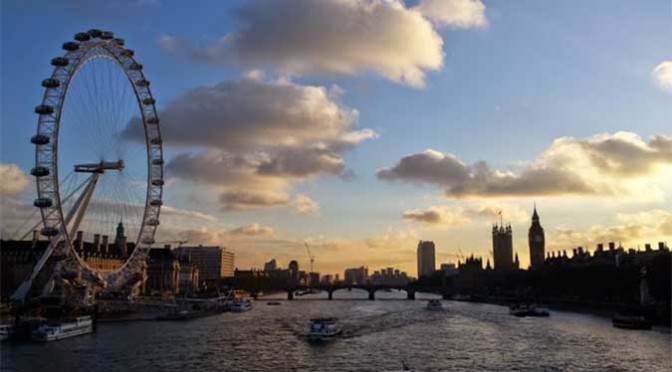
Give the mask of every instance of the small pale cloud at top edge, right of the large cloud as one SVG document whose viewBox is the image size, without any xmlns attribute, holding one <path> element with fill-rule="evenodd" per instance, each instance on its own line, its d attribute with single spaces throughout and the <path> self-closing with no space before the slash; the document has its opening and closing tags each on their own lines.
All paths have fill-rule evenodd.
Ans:
<svg viewBox="0 0 672 372">
<path fill-rule="evenodd" d="M 422 0 L 415 9 L 439 26 L 463 29 L 488 26 L 481 0 Z"/>
</svg>

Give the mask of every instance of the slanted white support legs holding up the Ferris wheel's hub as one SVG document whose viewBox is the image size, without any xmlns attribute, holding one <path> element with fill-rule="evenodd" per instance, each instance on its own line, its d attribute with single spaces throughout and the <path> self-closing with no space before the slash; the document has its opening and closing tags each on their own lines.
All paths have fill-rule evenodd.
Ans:
<svg viewBox="0 0 672 372">
<path fill-rule="evenodd" d="M 93 191 L 95 189 L 96 183 L 98 182 L 98 178 L 100 177 L 100 174 L 94 174 L 91 177 L 91 180 L 89 181 L 89 184 L 86 186 L 86 189 L 82 193 L 82 195 L 77 199 L 75 202 L 75 205 L 72 207 L 70 212 L 68 213 L 67 218 L 65 219 L 65 225 L 61 226 L 61 231 L 58 235 L 54 236 L 51 238 L 49 242 L 49 246 L 47 247 L 46 251 L 42 254 L 42 257 L 40 257 L 40 260 L 37 261 L 35 264 L 35 267 L 33 267 L 33 271 L 31 272 L 30 276 L 19 286 L 19 288 L 12 294 L 11 300 L 12 301 L 23 301 L 26 298 L 26 295 L 28 295 L 28 291 L 30 291 L 30 288 L 33 286 L 33 281 L 37 276 L 40 274 L 42 269 L 44 268 L 44 265 L 47 263 L 47 260 L 49 260 L 49 257 L 54 253 L 54 250 L 58 247 L 58 244 L 63 241 L 63 237 L 68 239 L 68 233 L 67 233 L 67 226 L 70 223 L 70 220 L 73 218 L 75 212 L 77 210 L 80 210 L 80 213 L 77 215 L 77 224 L 75 228 L 79 227 L 79 223 L 81 223 L 81 219 L 84 215 L 84 211 L 86 210 L 86 207 L 89 204 L 89 201 L 91 200 L 91 196 L 93 195 Z M 80 206 L 84 203 L 84 208 L 80 208 Z M 70 242 L 67 241 L 65 243 L 65 252 L 67 253 L 70 247 Z M 50 283 L 53 280 L 54 273 L 60 270 L 61 264 L 60 262 L 56 265 L 56 269 L 54 272 L 51 274 L 51 278 L 47 283 Z M 47 288 L 49 285 L 47 285 Z M 46 288 L 45 288 L 46 289 Z"/>
</svg>

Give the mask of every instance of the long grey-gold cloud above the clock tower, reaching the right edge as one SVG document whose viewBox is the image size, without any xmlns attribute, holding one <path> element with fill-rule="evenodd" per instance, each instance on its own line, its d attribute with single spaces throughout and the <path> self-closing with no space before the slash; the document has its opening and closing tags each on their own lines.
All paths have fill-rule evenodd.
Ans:
<svg viewBox="0 0 672 372">
<path fill-rule="evenodd" d="M 454 198 L 615 196 L 634 195 L 647 177 L 670 167 L 672 138 L 658 135 L 644 142 L 634 133 L 618 132 L 557 139 L 518 172 L 491 169 L 484 161 L 466 164 L 453 154 L 427 150 L 376 175 L 384 181 L 436 185 Z"/>
</svg>

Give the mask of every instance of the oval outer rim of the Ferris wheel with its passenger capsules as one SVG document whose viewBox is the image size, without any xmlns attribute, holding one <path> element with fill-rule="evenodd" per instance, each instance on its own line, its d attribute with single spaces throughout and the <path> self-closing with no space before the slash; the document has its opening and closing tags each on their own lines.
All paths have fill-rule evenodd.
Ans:
<svg viewBox="0 0 672 372">
<path fill-rule="evenodd" d="M 135 249 L 126 262 L 108 276 L 114 281 L 124 270 L 133 272 L 144 264 L 147 251 L 154 243 L 163 205 L 163 141 L 159 126 L 156 101 L 150 90 L 143 67 L 134 58 L 134 52 L 124 47 L 123 39 L 114 38 L 111 32 L 90 30 L 75 35 L 76 41 L 63 44 L 64 56 L 55 57 L 51 63 L 54 70 L 43 80 L 45 93 L 42 103 L 35 111 L 39 115 L 37 133 L 31 138 L 35 145 L 35 167 L 31 174 L 36 178 L 37 196 L 34 205 L 40 208 L 43 235 L 53 238 L 58 234 L 65 241 L 68 252 L 76 257 L 84 269 L 94 272 L 72 247 L 72 237 L 67 231 L 58 179 L 58 141 L 61 115 L 65 107 L 68 89 L 79 70 L 96 58 L 109 58 L 123 72 L 137 100 L 145 134 L 147 155 L 147 188 L 145 203 Z"/>
</svg>

